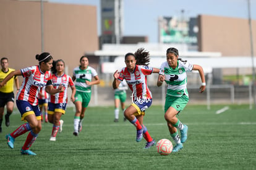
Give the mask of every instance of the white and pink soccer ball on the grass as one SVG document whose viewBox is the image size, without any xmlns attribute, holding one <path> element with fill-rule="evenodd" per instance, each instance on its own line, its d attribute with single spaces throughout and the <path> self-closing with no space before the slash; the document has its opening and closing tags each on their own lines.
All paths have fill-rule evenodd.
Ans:
<svg viewBox="0 0 256 170">
<path fill-rule="evenodd" d="M 160 155 L 169 155 L 173 151 L 173 143 L 166 138 L 162 138 L 156 143 L 156 150 Z"/>
</svg>

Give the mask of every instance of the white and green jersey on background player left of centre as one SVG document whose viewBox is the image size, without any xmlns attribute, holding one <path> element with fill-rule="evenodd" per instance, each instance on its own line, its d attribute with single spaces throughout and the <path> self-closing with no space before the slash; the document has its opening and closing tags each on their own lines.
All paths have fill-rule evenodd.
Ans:
<svg viewBox="0 0 256 170">
<path fill-rule="evenodd" d="M 85 80 L 92 82 L 93 77 L 97 74 L 93 67 L 88 66 L 87 69 L 82 70 L 80 67 L 75 67 L 73 70 L 73 76 L 75 76 L 75 88 L 77 91 L 82 91 L 86 93 L 91 92 L 91 85 L 87 85 Z"/>
</svg>

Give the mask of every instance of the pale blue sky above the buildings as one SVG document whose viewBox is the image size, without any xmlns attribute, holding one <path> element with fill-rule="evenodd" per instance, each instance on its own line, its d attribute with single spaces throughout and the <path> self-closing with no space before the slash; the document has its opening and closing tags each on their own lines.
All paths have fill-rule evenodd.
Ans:
<svg viewBox="0 0 256 170">
<path fill-rule="evenodd" d="M 48 0 L 66 4 L 97 6 L 98 35 L 100 35 L 100 0 Z M 148 36 L 150 43 L 158 41 L 158 17 L 218 15 L 248 19 L 247 0 L 124 0 L 124 36 Z M 256 20 L 256 0 L 250 0 L 250 15 Z M 256 30 L 256 28 L 253 28 Z"/>
</svg>

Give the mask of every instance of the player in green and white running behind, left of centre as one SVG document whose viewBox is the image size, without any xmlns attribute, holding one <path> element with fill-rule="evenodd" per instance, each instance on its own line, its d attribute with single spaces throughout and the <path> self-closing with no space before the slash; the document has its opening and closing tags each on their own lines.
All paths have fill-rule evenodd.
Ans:
<svg viewBox="0 0 256 170">
<path fill-rule="evenodd" d="M 75 82 L 75 117 L 74 132 L 75 136 L 79 135 L 82 130 L 82 121 L 85 116 L 85 110 L 91 100 L 92 85 L 100 83 L 98 74 L 93 67 L 88 66 L 89 59 L 87 56 L 80 57 L 80 66 L 75 67 L 72 80 Z M 94 80 L 93 80 L 94 79 Z"/>
</svg>

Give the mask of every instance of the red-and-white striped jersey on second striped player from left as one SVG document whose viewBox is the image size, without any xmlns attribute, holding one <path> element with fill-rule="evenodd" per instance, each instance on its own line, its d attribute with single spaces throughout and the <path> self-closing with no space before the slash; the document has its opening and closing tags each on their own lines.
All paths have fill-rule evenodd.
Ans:
<svg viewBox="0 0 256 170">
<path fill-rule="evenodd" d="M 51 76 L 53 87 L 59 88 L 59 85 L 64 87 L 64 91 L 56 93 L 55 95 L 50 95 L 49 102 L 50 103 L 67 103 L 67 88 L 74 86 L 74 82 L 69 75 L 63 74 L 61 76 L 57 76 L 53 74 Z"/>
</svg>

